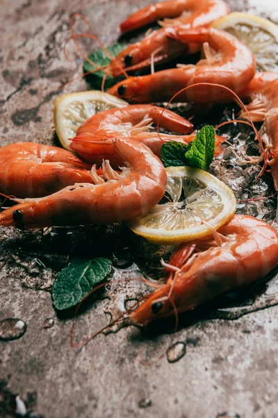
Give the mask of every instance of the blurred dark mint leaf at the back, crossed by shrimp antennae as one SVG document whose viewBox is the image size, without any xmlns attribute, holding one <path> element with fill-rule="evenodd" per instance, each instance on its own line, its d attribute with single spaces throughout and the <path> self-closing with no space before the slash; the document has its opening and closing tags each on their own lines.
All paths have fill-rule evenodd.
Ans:
<svg viewBox="0 0 278 418">
<path fill-rule="evenodd" d="M 113 57 L 115 57 L 117 54 L 122 52 L 122 50 L 125 48 L 125 45 L 122 44 L 114 44 L 107 47 L 108 51 L 111 53 Z M 111 59 L 109 56 L 107 56 L 106 52 L 102 48 L 95 49 L 92 54 L 88 56 L 88 59 L 90 59 L 93 63 L 99 65 L 102 67 L 103 65 L 108 65 L 111 63 Z M 83 63 L 83 72 L 89 72 L 94 70 L 94 67 L 88 61 L 84 61 Z M 94 88 L 95 90 L 101 90 L 101 83 L 102 79 L 104 78 L 105 72 L 104 71 L 97 71 L 94 72 L 94 74 L 88 75 L 88 82 Z M 117 79 L 114 77 L 111 77 L 111 75 L 106 76 L 105 81 L 105 87 L 110 88 L 117 82 Z"/>
</svg>

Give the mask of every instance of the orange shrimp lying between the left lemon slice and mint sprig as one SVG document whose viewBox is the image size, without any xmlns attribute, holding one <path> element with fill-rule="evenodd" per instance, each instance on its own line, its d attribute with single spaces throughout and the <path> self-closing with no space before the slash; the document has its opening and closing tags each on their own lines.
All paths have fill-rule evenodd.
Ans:
<svg viewBox="0 0 278 418">
<path fill-rule="evenodd" d="M 119 156 L 113 152 L 113 145 L 102 143 L 104 137 L 115 137 L 120 135 L 121 137 L 129 137 L 135 141 L 140 141 L 149 147 L 152 152 L 160 157 L 161 146 L 166 141 L 179 141 L 183 144 L 188 144 L 195 139 L 195 133 L 189 135 L 172 135 L 162 134 L 158 135 L 157 132 L 147 132 L 150 124 L 154 122 L 165 127 L 167 130 L 187 133 L 193 126 L 182 116 L 174 114 L 174 112 L 163 109 L 162 107 L 153 106 L 152 104 L 131 104 L 123 107 L 122 109 L 108 109 L 101 111 L 79 127 L 76 132 L 76 141 L 72 141 L 71 148 L 76 150 L 76 146 L 79 149 L 79 155 L 83 157 L 85 161 L 101 163 L 101 161 L 109 155 L 109 161 L 111 165 L 118 166 L 120 164 Z M 78 141 L 78 139 L 80 141 Z M 99 144 L 97 141 L 100 140 Z M 86 153 L 81 150 L 80 144 L 94 141 L 94 146 L 90 147 L 90 153 Z M 216 146 L 218 147 L 223 141 L 223 138 L 216 135 Z M 76 145 L 77 144 L 77 145 Z M 219 148 L 217 149 L 218 152 Z"/>
</svg>

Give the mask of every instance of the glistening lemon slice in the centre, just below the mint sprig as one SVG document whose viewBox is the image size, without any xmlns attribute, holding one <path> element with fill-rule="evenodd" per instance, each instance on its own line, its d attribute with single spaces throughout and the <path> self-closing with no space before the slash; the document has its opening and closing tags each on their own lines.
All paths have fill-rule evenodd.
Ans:
<svg viewBox="0 0 278 418">
<path fill-rule="evenodd" d="M 165 197 L 147 215 L 129 222 L 131 230 L 159 245 L 177 245 L 218 229 L 236 210 L 234 193 L 204 170 L 167 167 Z"/>
</svg>

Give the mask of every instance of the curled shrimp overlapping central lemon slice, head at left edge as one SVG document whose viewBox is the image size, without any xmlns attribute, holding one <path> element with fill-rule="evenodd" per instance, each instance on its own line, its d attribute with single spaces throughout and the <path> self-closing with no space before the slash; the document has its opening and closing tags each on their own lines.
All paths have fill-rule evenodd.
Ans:
<svg viewBox="0 0 278 418">
<path fill-rule="evenodd" d="M 74 141 L 83 150 L 81 141 Z M 92 176 L 97 184 L 76 183 L 50 196 L 17 199 L 21 203 L 1 212 L 0 225 L 32 229 L 112 223 L 133 219 L 152 209 L 165 192 L 167 176 L 162 162 L 149 148 L 132 139 L 106 139 L 104 144 L 112 144 L 114 152 L 127 163 L 120 173 L 106 160 L 102 167 L 106 182 L 94 166 Z M 85 144 L 85 148 L 92 145 Z"/>
</svg>

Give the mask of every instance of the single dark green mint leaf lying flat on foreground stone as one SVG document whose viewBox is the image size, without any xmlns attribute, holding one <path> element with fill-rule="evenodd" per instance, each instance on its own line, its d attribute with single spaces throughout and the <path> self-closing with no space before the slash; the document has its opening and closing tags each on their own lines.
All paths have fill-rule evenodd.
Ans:
<svg viewBox="0 0 278 418">
<path fill-rule="evenodd" d="M 58 273 L 54 281 L 52 288 L 54 307 L 59 310 L 74 307 L 109 272 L 111 272 L 111 261 L 107 258 L 72 261 Z"/>
</svg>

